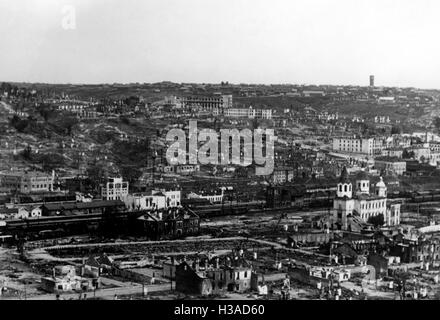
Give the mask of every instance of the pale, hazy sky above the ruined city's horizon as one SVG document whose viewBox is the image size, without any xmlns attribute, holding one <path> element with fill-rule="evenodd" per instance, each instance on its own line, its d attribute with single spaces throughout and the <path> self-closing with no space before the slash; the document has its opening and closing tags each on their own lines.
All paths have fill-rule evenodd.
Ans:
<svg viewBox="0 0 440 320">
<path fill-rule="evenodd" d="M 1 0 L 0 81 L 368 85 L 374 74 L 440 89 L 439 15 L 438 0 Z"/>
</svg>

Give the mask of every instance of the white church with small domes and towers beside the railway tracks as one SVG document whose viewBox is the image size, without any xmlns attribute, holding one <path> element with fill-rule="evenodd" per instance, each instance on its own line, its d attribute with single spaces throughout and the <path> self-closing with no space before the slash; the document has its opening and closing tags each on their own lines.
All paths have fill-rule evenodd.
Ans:
<svg viewBox="0 0 440 320">
<path fill-rule="evenodd" d="M 384 226 L 400 224 L 400 204 L 387 202 L 387 186 L 382 177 L 372 187 L 368 174 L 362 171 L 353 182 L 344 168 L 333 202 L 333 222 L 337 229 L 361 230 L 370 218 L 379 215 L 384 217 Z"/>
</svg>

